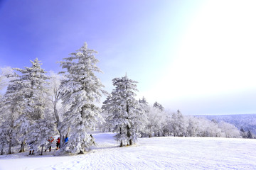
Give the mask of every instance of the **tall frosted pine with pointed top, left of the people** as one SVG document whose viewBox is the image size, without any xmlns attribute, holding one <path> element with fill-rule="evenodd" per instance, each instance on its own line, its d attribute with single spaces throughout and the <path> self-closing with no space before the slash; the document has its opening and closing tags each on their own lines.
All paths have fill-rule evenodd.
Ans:
<svg viewBox="0 0 256 170">
<path fill-rule="evenodd" d="M 24 69 L 16 68 L 16 71 L 21 73 L 19 82 L 21 85 L 20 92 L 23 93 L 23 99 L 18 103 L 23 111 L 15 121 L 15 126 L 19 130 L 19 138 L 23 144 L 21 151 L 24 149 L 26 140 L 33 140 L 33 137 L 31 139 L 28 134 L 31 131 L 31 125 L 43 118 L 47 108 L 46 79 L 48 77 L 37 58 L 31 61 L 31 64 L 31 67 L 25 67 Z"/>
</svg>

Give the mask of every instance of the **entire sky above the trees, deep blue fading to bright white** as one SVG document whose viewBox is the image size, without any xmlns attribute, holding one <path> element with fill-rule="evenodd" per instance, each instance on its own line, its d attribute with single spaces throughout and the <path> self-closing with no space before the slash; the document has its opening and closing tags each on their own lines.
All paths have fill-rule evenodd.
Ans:
<svg viewBox="0 0 256 170">
<path fill-rule="evenodd" d="M 99 77 L 185 115 L 256 113 L 256 1 L 0 0 L 0 67 L 59 72 L 84 42 Z"/>
</svg>

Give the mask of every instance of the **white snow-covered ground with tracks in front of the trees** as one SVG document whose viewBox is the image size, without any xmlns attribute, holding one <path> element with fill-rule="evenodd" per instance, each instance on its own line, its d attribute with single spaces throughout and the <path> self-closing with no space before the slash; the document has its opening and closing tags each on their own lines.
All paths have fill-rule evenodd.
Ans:
<svg viewBox="0 0 256 170">
<path fill-rule="evenodd" d="M 140 138 L 132 147 L 118 147 L 112 133 L 93 136 L 97 146 L 87 154 L 3 155 L 0 169 L 256 169 L 256 140 L 151 137 Z"/>
</svg>

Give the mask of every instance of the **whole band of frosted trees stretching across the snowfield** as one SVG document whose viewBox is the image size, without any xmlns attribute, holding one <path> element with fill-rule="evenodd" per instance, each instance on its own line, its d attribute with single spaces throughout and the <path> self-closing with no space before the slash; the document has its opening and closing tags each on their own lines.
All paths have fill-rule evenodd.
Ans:
<svg viewBox="0 0 256 170">
<path fill-rule="evenodd" d="M 0 101 L 0 154 L 43 150 L 48 138 L 60 137 L 56 154 L 82 154 L 95 144 L 92 130 L 116 132 L 120 147 L 133 145 L 138 137 L 247 137 L 229 123 L 169 113 L 160 103 L 135 98 L 137 81 L 127 75 L 112 79 L 111 93 L 95 76 L 95 50 L 85 43 L 60 62 L 62 71 L 46 73 L 38 59 L 31 67 L 6 69 L 0 87 L 7 86 Z M 5 79 L 5 80 L 4 80 Z M 7 80 L 7 81 L 6 81 Z M 107 96 L 98 106 L 102 96 Z M 68 142 L 64 138 L 68 137 Z M 21 147 L 14 151 L 14 147 Z"/>
</svg>

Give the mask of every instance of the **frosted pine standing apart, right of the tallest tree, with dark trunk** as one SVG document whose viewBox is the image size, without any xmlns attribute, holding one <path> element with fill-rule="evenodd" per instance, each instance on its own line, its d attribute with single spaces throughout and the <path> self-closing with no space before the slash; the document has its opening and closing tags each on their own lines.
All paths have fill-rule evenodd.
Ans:
<svg viewBox="0 0 256 170">
<path fill-rule="evenodd" d="M 137 81 L 128 79 L 127 76 L 114 78 L 112 81 L 115 89 L 102 108 L 109 113 L 107 120 L 111 121 L 114 132 L 117 132 L 115 139 L 120 142 L 120 147 L 124 145 L 124 141 L 132 145 L 139 137 L 139 131 L 146 120 L 144 110 L 134 98 Z"/>
</svg>

